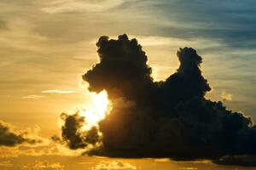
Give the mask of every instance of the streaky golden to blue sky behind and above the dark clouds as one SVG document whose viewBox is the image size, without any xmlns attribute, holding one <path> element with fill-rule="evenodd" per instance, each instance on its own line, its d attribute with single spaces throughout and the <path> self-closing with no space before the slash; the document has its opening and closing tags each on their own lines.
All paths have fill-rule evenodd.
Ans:
<svg viewBox="0 0 256 170">
<path fill-rule="evenodd" d="M 195 48 L 212 86 L 207 98 L 256 120 L 255 5 L 253 0 L 1 0 L 0 118 L 44 138 L 60 133 L 61 112 L 92 102 L 81 76 L 99 61 L 97 39 L 126 33 L 143 46 L 155 81 L 177 70 L 178 48 Z"/>
</svg>

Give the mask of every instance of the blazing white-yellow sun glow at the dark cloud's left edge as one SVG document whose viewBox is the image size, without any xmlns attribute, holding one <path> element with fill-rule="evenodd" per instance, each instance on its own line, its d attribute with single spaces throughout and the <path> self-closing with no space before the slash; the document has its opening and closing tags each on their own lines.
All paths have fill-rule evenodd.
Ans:
<svg viewBox="0 0 256 170">
<path fill-rule="evenodd" d="M 99 94 L 91 93 L 90 95 L 92 98 L 91 105 L 80 113 L 81 116 L 84 116 L 86 122 L 83 130 L 88 130 L 94 126 L 97 127 L 98 123 L 105 118 L 109 111 L 111 111 L 108 94 L 105 90 Z"/>
</svg>

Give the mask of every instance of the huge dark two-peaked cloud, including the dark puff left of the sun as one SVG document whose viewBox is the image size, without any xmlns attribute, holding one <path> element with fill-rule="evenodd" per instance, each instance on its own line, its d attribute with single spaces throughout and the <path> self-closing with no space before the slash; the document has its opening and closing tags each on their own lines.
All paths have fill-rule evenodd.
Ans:
<svg viewBox="0 0 256 170">
<path fill-rule="evenodd" d="M 113 110 L 99 124 L 102 145 L 90 155 L 184 160 L 256 154 L 251 118 L 205 99 L 211 88 L 195 49 L 180 48 L 177 71 L 154 82 L 136 39 L 100 37 L 96 46 L 100 62 L 83 78 L 90 91 L 107 90 Z M 70 148 L 85 147 L 86 133 L 79 133 L 84 119 L 76 114 L 63 120 L 62 137 Z"/>
</svg>

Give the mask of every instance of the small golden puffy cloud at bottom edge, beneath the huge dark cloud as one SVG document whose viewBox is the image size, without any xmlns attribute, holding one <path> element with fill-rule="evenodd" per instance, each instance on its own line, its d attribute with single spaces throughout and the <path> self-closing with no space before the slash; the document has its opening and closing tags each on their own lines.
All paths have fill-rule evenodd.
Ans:
<svg viewBox="0 0 256 170">
<path fill-rule="evenodd" d="M 101 161 L 96 167 L 92 170 L 116 170 L 124 169 L 131 170 L 137 169 L 136 166 L 131 165 L 130 163 L 125 163 L 124 161 Z"/>
</svg>

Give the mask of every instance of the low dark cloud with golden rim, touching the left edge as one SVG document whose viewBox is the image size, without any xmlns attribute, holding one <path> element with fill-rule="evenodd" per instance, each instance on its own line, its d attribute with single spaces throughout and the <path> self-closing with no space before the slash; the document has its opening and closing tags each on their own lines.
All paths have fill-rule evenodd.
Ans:
<svg viewBox="0 0 256 170">
<path fill-rule="evenodd" d="M 37 144 L 41 143 L 40 139 L 31 139 L 26 137 L 27 132 L 18 132 L 9 124 L 0 121 L 0 146 L 15 146 L 17 144 Z"/>
</svg>

